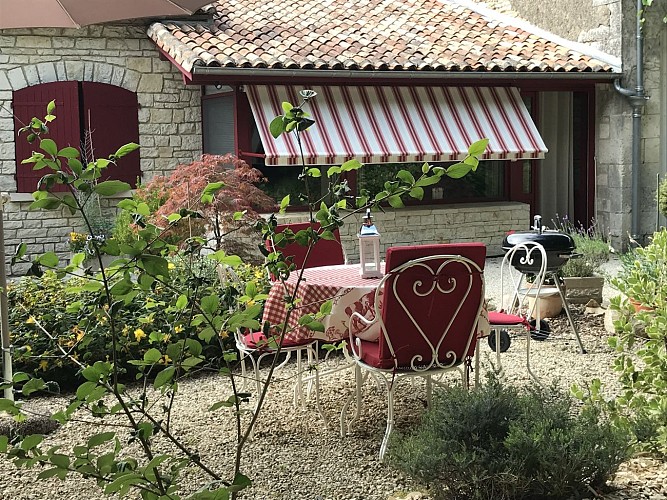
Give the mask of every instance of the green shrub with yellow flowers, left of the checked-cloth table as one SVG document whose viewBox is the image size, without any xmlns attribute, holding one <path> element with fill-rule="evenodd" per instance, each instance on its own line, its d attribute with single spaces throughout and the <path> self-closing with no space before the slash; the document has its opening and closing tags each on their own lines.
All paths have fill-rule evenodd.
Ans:
<svg viewBox="0 0 667 500">
<path fill-rule="evenodd" d="M 213 360 L 229 343 L 226 341 L 229 332 L 210 336 L 204 327 L 193 326 L 190 318 L 182 317 L 175 307 L 180 295 L 195 289 L 215 288 L 231 309 L 238 297 L 246 293 L 247 286 L 252 287 L 252 295 L 263 294 L 269 287 L 263 268 L 242 265 L 237 268 L 239 283 L 222 286 L 218 283 L 213 261 L 176 257 L 171 262 L 171 266 L 183 268 L 182 272 L 174 273 L 178 278 L 171 284 L 173 289 L 155 282 L 116 313 L 117 328 L 121 332 L 116 350 L 125 378 L 136 373 L 129 360 L 141 359 L 151 347 L 189 337 L 205 337 L 208 344 L 204 355 Z M 186 266 L 196 269 L 192 273 L 185 272 Z M 108 308 L 101 305 L 102 291 L 88 292 L 82 288 L 86 282 L 86 279 L 77 277 L 60 279 L 55 272 L 47 271 L 39 278 L 26 277 L 10 285 L 9 321 L 12 343 L 16 347 L 15 371 L 33 373 L 44 380 L 58 382 L 62 388 L 71 388 L 79 382 L 78 367 L 68 361 L 62 350 L 89 365 L 110 360 L 112 341 Z"/>
</svg>

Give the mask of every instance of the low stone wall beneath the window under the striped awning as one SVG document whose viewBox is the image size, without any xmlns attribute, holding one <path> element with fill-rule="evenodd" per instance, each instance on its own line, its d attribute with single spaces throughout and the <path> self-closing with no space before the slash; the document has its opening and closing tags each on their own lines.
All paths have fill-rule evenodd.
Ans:
<svg viewBox="0 0 667 500">
<path fill-rule="evenodd" d="M 279 220 L 281 224 L 304 222 L 308 215 L 288 213 Z M 485 243 L 489 255 L 499 255 L 508 231 L 527 230 L 531 225 L 529 205 L 516 202 L 387 209 L 385 213 L 374 212 L 373 220 L 380 232 L 381 255 L 390 246 L 464 241 Z M 347 219 L 341 228 L 345 256 L 351 263 L 359 262 L 357 232 L 360 226 L 361 214 Z"/>
</svg>

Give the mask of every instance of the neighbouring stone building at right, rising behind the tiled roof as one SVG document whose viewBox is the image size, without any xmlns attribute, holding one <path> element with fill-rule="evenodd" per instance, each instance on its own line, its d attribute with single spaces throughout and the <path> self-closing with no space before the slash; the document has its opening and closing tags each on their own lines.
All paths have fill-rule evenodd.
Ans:
<svg viewBox="0 0 667 500">
<path fill-rule="evenodd" d="M 633 233 L 644 243 L 647 235 L 666 222 L 656 208 L 656 186 L 658 177 L 667 179 L 667 1 L 655 0 L 640 16 L 641 0 L 487 0 L 485 5 L 620 58 L 619 85 L 631 91 L 643 87 L 641 92 L 649 99 L 637 99 L 641 125 L 634 139 L 636 159 L 633 101 L 614 87 L 596 87 L 594 134 L 595 215 L 620 246 Z M 638 21 L 642 36 L 639 66 Z"/>
</svg>

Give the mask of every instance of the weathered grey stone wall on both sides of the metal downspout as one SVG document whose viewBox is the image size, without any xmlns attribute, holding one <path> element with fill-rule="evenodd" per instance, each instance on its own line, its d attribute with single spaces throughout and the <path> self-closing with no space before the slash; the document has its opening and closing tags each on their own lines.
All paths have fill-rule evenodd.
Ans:
<svg viewBox="0 0 667 500">
<path fill-rule="evenodd" d="M 636 15 L 634 0 L 623 0 L 623 87 L 636 86 Z M 644 88 L 650 97 L 642 110 L 639 165 L 639 227 L 637 239 L 646 243 L 658 220 L 657 175 L 667 175 L 667 2 L 655 2 L 646 11 L 644 33 Z M 632 107 L 613 87 L 598 86 L 597 99 L 597 211 L 611 229 L 612 242 L 624 249 L 631 233 Z"/>
</svg>

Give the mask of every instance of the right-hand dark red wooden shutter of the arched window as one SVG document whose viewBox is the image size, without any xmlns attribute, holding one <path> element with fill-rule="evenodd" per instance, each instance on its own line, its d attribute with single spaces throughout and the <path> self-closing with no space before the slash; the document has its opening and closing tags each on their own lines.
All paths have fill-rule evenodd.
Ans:
<svg viewBox="0 0 667 500">
<path fill-rule="evenodd" d="M 95 158 L 108 158 L 128 142 L 139 143 L 139 106 L 134 92 L 106 83 L 82 82 L 84 128 L 91 131 Z M 141 175 L 139 151 L 107 168 L 100 180 L 137 184 Z"/>
</svg>

